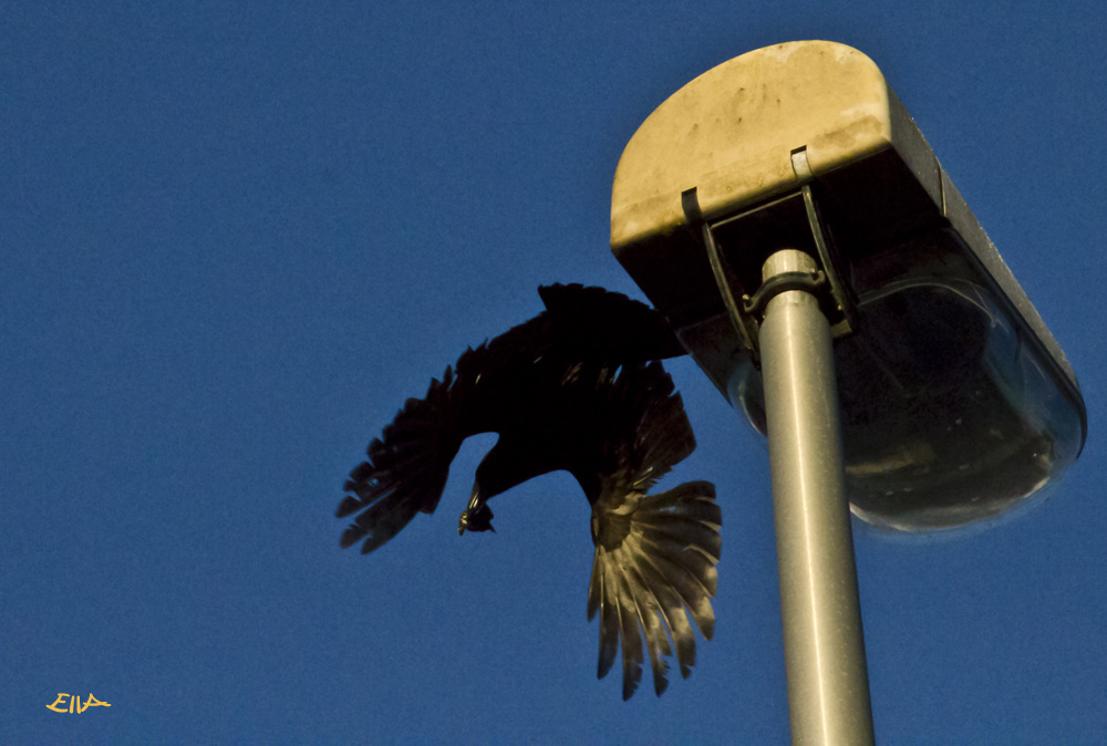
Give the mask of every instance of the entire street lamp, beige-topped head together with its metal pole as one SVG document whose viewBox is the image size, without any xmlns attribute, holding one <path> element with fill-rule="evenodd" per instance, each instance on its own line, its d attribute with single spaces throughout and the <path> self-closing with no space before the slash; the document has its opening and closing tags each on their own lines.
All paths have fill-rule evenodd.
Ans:
<svg viewBox="0 0 1107 746">
<path fill-rule="evenodd" d="M 1086 437 L 1068 361 L 842 44 L 756 50 L 670 96 L 619 162 L 611 248 L 768 435 L 794 743 L 871 743 L 848 510 L 923 532 L 1032 501 Z"/>
</svg>

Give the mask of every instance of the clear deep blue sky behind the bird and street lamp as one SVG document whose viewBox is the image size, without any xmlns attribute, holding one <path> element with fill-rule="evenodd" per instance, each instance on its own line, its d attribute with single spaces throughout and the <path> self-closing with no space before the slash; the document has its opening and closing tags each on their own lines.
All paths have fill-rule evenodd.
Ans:
<svg viewBox="0 0 1107 746">
<path fill-rule="evenodd" d="M 1020 520 L 855 527 L 878 739 L 1107 743 L 1105 28 L 1098 0 L 4 3 L 0 742 L 785 743 L 766 447 L 687 359 L 700 448 L 665 484 L 718 487 L 718 621 L 660 700 L 594 678 L 568 475 L 458 538 L 472 442 L 370 557 L 333 511 L 538 284 L 641 298 L 608 211 L 656 105 L 829 39 L 880 65 L 1089 412 Z"/>
</svg>

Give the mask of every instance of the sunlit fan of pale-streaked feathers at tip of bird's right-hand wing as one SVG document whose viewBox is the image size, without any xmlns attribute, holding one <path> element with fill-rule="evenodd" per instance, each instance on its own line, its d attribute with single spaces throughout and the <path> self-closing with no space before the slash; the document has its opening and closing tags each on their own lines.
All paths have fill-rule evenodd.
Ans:
<svg viewBox="0 0 1107 746">
<path fill-rule="evenodd" d="M 712 638 L 722 520 L 708 481 L 643 496 L 630 512 L 593 512 L 588 619 L 599 611 L 597 674 L 602 678 L 611 670 L 621 640 L 624 700 L 642 677 L 643 641 L 660 695 L 669 685 L 666 659 L 673 647 L 683 677 L 695 665 L 695 635 L 686 613 L 705 639 Z"/>
</svg>

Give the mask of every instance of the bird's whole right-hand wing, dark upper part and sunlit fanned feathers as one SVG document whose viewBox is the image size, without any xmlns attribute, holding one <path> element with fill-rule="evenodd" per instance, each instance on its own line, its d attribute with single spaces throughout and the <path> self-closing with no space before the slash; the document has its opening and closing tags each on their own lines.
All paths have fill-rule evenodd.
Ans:
<svg viewBox="0 0 1107 746">
<path fill-rule="evenodd" d="M 695 665 L 695 635 L 685 610 L 711 639 L 722 542 L 722 512 L 707 481 L 659 495 L 650 486 L 695 448 L 691 425 L 672 381 L 659 364 L 624 370 L 618 395 L 642 400 L 632 438 L 617 445 L 619 469 L 603 480 L 592 505 L 596 555 L 588 589 L 588 619 L 600 613 L 597 674 L 607 675 L 622 641 L 623 698 L 642 677 L 642 643 L 660 695 L 669 685 L 668 657 L 675 646 L 681 675 Z M 668 630 L 668 632 L 666 632 Z M 673 646 L 670 646 L 669 635 Z"/>
</svg>

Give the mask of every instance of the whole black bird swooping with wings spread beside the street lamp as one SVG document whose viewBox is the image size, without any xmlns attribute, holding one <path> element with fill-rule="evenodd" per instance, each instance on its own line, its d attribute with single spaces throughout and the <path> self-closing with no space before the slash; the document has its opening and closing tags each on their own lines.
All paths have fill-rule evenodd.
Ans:
<svg viewBox="0 0 1107 746">
<path fill-rule="evenodd" d="M 410 398 L 350 473 L 340 518 L 358 514 L 342 546 L 381 547 L 416 512 L 433 512 L 462 441 L 499 434 L 476 470 L 466 529 L 492 529 L 489 498 L 532 477 L 568 470 L 592 506 L 596 545 L 588 619 L 600 612 L 598 675 L 622 640 L 623 698 L 642 677 L 668 686 L 672 635 L 681 674 L 695 664 L 685 609 L 711 639 L 722 515 L 714 485 L 649 488 L 695 448 L 660 358 L 683 354 L 664 318 L 601 288 L 539 288 L 546 311 L 468 349 L 424 398 Z M 668 629 L 668 634 L 666 634 Z"/>
</svg>

